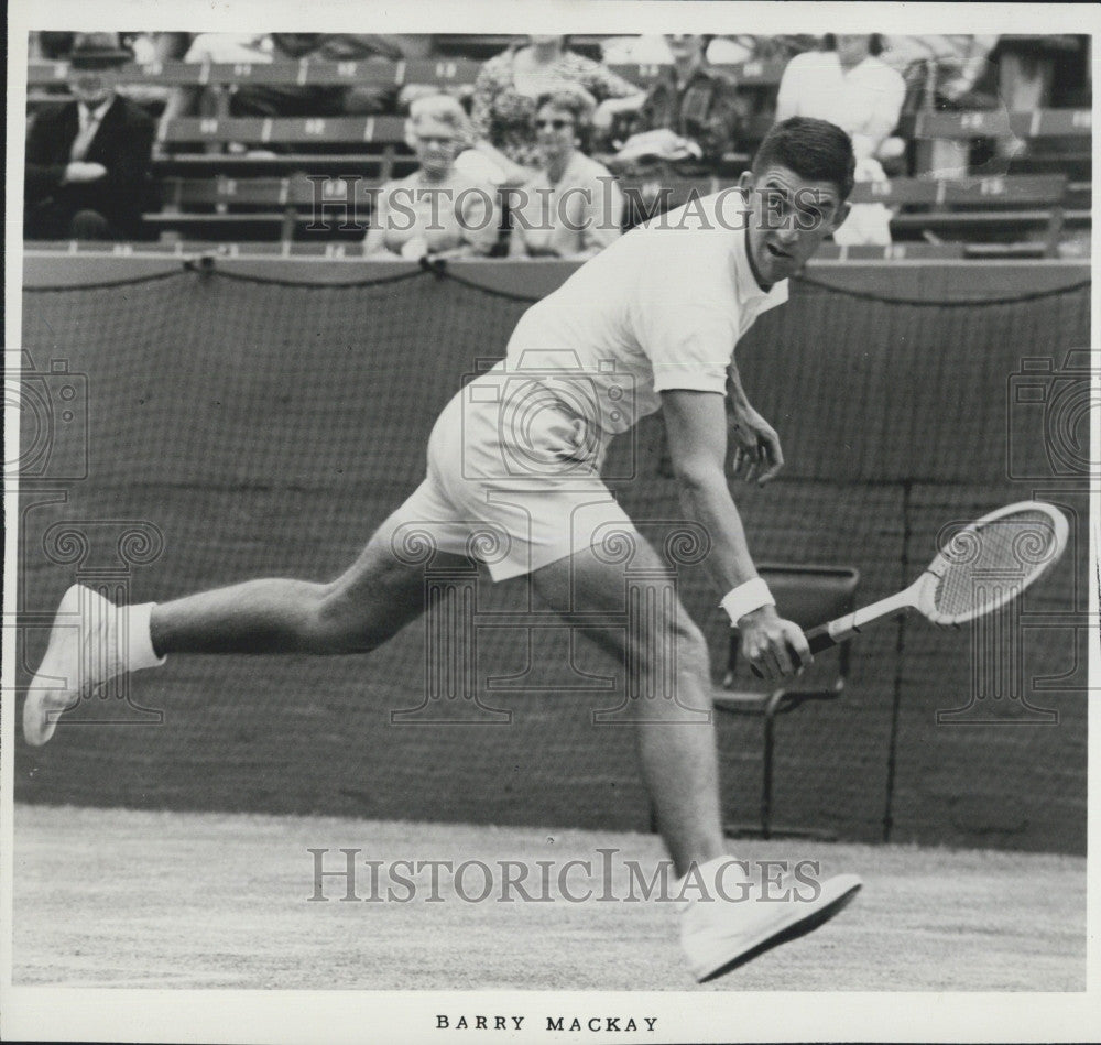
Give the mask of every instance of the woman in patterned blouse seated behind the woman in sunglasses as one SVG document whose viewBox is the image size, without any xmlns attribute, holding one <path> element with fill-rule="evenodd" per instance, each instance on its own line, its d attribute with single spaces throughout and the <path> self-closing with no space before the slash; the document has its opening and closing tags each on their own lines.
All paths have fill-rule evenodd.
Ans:
<svg viewBox="0 0 1101 1045">
<path fill-rule="evenodd" d="M 576 87 L 596 99 L 592 121 L 600 130 L 637 110 L 645 97 L 599 62 L 569 51 L 565 36 L 531 36 L 482 65 L 470 116 L 477 148 L 500 166 L 502 184 L 522 185 L 538 166 L 532 128 L 538 99 Z"/>
</svg>

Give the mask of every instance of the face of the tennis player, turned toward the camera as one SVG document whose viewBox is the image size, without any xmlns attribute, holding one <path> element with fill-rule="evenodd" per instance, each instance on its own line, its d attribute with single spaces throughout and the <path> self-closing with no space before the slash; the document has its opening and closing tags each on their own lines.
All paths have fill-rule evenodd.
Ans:
<svg viewBox="0 0 1101 1045">
<path fill-rule="evenodd" d="M 832 182 L 808 182 L 777 164 L 739 185 L 749 197 L 749 251 L 762 283 L 795 275 L 849 215 Z"/>
</svg>

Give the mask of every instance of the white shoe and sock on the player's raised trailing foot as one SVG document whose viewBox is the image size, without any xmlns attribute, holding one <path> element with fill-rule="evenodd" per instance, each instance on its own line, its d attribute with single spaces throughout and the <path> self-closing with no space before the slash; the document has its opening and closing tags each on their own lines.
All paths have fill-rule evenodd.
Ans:
<svg viewBox="0 0 1101 1045">
<path fill-rule="evenodd" d="M 62 714 L 98 686 L 128 671 L 163 664 L 153 653 L 149 616 L 153 603 L 116 606 L 84 585 L 62 597 L 46 655 L 26 692 L 23 737 L 41 747 Z"/>
</svg>

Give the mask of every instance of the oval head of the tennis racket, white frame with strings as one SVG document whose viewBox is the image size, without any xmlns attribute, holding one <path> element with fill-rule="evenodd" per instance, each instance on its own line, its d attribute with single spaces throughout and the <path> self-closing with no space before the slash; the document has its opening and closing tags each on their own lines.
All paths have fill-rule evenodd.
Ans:
<svg viewBox="0 0 1101 1045">
<path fill-rule="evenodd" d="M 953 533 L 914 586 L 914 607 L 935 624 L 962 624 L 1005 606 L 1067 547 L 1066 515 L 1018 501 Z"/>
</svg>

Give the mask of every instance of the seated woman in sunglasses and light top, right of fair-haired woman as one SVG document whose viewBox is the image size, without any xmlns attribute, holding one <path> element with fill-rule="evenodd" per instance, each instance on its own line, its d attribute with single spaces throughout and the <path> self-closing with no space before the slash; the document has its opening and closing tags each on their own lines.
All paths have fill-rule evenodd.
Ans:
<svg viewBox="0 0 1101 1045">
<path fill-rule="evenodd" d="M 608 168 L 581 152 L 592 102 L 581 91 L 539 99 L 539 173 L 511 193 L 510 258 L 591 258 L 620 235 L 623 194 Z"/>
</svg>

